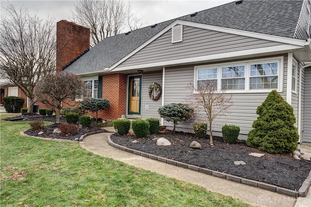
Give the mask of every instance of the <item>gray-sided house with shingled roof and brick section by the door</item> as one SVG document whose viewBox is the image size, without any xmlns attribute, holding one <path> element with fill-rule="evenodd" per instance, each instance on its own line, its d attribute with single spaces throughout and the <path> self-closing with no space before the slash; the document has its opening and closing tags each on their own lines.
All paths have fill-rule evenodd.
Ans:
<svg viewBox="0 0 311 207">
<path fill-rule="evenodd" d="M 66 23 L 79 28 L 58 22 Z M 82 36 L 89 34 L 83 30 Z M 236 124 L 241 139 L 252 129 L 257 107 L 276 89 L 294 108 L 300 142 L 311 142 L 310 30 L 310 1 L 237 0 L 105 38 L 70 65 L 77 55 L 63 61 L 58 70 L 64 67 L 83 78 L 90 97 L 110 101 L 100 114 L 104 119 L 122 114 L 159 118 L 160 106 L 185 102 L 193 94 L 188 84 L 217 80 L 232 94 L 233 105 L 213 126 L 215 135 L 221 135 L 225 123 Z M 79 35 L 66 36 L 82 42 Z M 157 101 L 149 98 L 154 82 L 162 87 Z M 191 131 L 195 119 L 179 123 L 178 130 Z"/>
</svg>

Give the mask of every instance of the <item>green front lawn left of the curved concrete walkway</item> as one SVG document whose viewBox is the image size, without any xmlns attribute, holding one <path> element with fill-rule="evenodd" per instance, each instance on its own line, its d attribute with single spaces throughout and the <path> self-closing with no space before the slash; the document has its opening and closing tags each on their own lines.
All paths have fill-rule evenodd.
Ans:
<svg viewBox="0 0 311 207">
<path fill-rule="evenodd" d="M 1 119 L 5 116 L 1 116 Z M 0 122 L 0 201 L 6 206 L 248 206 L 80 148 L 19 135 L 29 122 Z"/>
</svg>

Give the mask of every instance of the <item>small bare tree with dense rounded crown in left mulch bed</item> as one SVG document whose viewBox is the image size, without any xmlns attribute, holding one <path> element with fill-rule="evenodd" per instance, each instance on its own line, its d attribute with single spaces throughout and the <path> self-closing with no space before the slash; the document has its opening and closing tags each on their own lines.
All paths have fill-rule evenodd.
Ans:
<svg viewBox="0 0 311 207">
<path fill-rule="evenodd" d="M 49 104 L 56 111 L 56 123 L 59 123 L 62 103 L 86 95 L 85 83 L 72 73 L 59 72 L 41 78 L 35 86 L 35 96 L 40 102 Z"/>
</svg>

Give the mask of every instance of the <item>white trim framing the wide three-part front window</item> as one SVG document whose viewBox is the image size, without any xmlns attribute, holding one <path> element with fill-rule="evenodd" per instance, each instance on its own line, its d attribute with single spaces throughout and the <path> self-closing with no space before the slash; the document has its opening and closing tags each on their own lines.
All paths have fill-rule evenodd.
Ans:
<svg viewBox="0 0 311 207">
<path fill-rule="evenodd" d="M 260 63 L 267 63 L 267 62 L 277 62 L 278 69 L 277 69 L 277 89 L 250 89 L 250 65 L 252 64 L 260 64 Z M 248 61 L 235 61 L 229 62 L 224 64 L 211 64 L 211 65 L 202 65 L 202 66 L 195 66 L 194 67 L 194 78 L 193 78 L 193 85 L 194 88 L 197 86 L 198 81 L 198 69 L 212 69 L 217 68 L 217 89 L 221 90 L 221 80 L 222 80 L 222 68 L 223 67 L 232 67 L 232 66 L 245 66 L 244 70 L 244 78 L 245 78 L 245 89 L 244 90 L 225 90 L 225 93 L 267 93 L 271 92 L 272 90 L 276 90 L 277 92 L 283 92 L 283 72 L 284 72 L 284 57 L 271 57 L 271 58 L 264 58 L 264 59 L 254 59 Z M 193 90 L 194 94 L 197 94 L 195 90 Z"/>
</svg>

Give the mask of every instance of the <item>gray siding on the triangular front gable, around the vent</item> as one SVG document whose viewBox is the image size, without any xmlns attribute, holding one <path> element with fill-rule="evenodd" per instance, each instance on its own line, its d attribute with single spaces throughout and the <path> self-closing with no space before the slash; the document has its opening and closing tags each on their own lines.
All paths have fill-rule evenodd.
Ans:
<svg viewBox="0 0 311 207">
<path fill-rule="evenodd" d="M 282 45 L 282 43 L 183 26 L 183 41 L 172 43 L 172 30 L 125 60 L 118 68 L 224 52 Z"/>
</svg>

